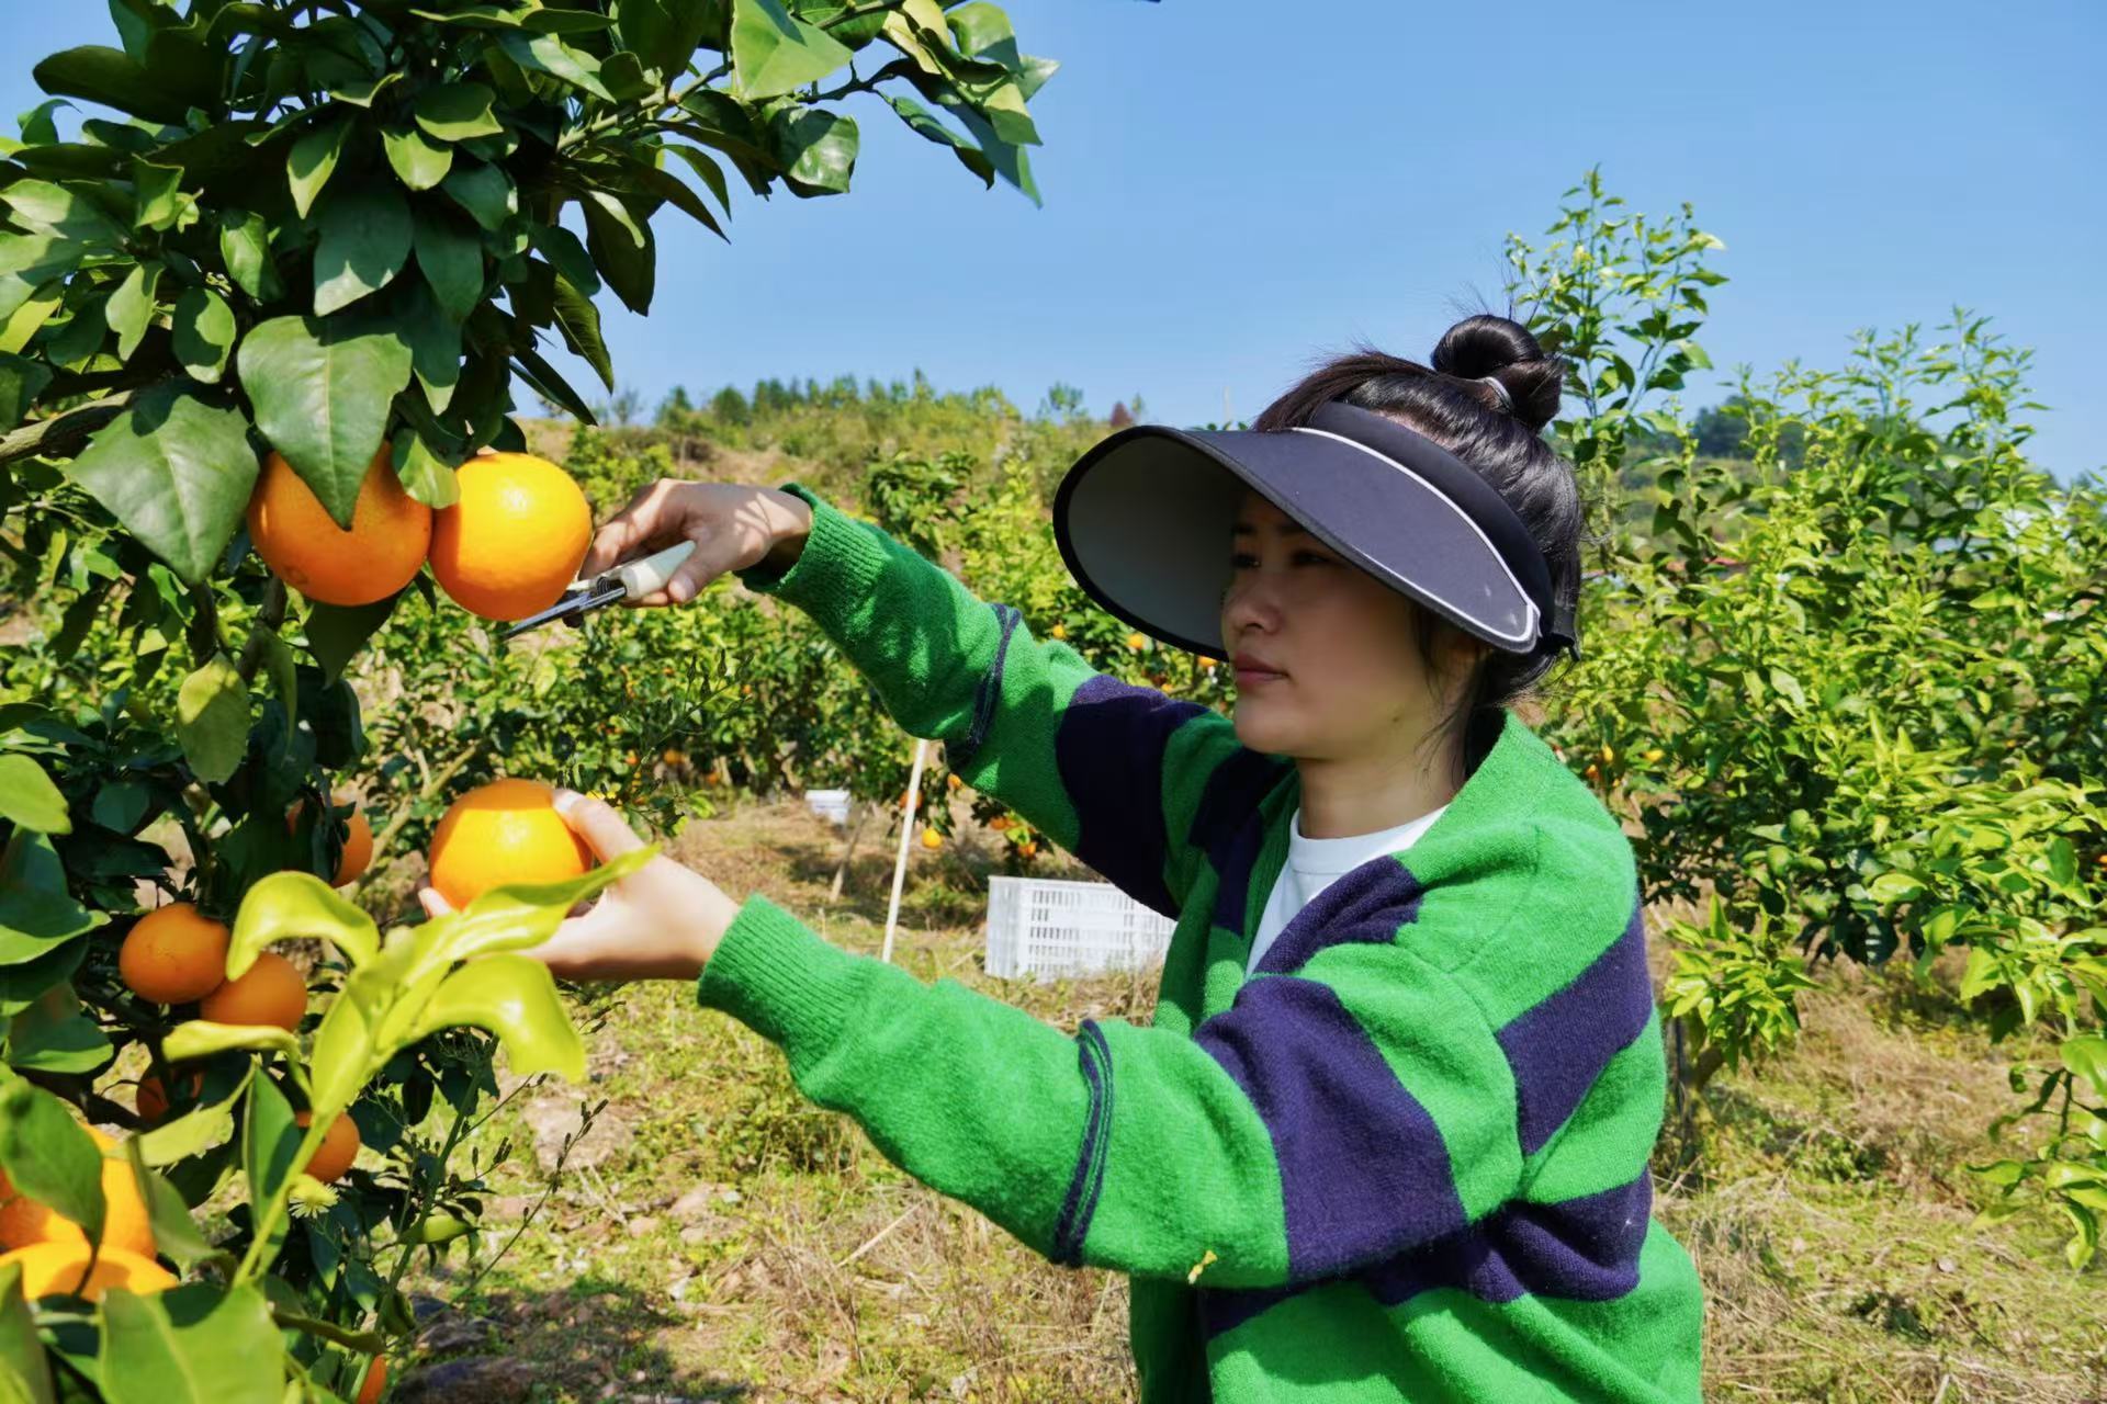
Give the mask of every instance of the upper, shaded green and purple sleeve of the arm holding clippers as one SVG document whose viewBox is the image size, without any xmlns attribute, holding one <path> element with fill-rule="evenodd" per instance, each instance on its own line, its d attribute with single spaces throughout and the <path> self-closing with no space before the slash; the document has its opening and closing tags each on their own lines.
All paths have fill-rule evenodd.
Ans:
<svg viewBox="0 0 2107 1404">
<path fill-rule="evenodd" d="M 961 781 L 1024 815 L 1136 901 L 1176 916 L 1201 869 L 1199 827 L 1249 813 L 1287 762 L 1237 741 L 1212 707 L 1094 671 L 1037 640 L 942 566 L 801 484 L 811 535 L 788 570 L 740 581 L 805 610 Z"/>
</svg>

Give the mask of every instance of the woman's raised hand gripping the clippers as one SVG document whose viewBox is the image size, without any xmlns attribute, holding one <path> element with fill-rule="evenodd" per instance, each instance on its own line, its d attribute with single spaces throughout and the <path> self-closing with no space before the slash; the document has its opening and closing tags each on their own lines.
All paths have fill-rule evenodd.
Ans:
<svg viewBox="0 0 2107 1404">
<path fill-rule="evenodd" d="M 788 570 L 805 549 L 809 533 L 811 507 L 780 488 L 662 478 L 636 493 L 630 505 L 598 530 L 577 575 L 590 579 L 626 560 L 693 541 L 695 551 L 681 562 L 664 589 L 626 600 L 651 608 L 687 604 L 727 570 L 746 570 L 763 560 Z"/>
</svg>

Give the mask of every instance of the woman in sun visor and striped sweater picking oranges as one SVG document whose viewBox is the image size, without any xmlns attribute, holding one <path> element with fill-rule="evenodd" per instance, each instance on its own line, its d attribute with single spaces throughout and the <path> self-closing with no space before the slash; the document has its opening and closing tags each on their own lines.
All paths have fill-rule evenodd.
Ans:
<svg viewBox="0 0 2107 1404">
<path fill-rule="evenodd" d="M 1174 914 L 1153 1027 L 1070 1038 L 657 859 L 539 949 L 697 979 L 799 1088 L 1058 1263 L 1131 1276 L 1142 1400 L 1696 1400 L 1650 1219 L 1665 1059 L 1631 846 L 1509 703 L 1576 653 L 1561 362 L 1475 316 L 1325 364 L 1249 432 L 1136 425 L 1056 530 L 1235 718 L 1091 674 L 813 493 L 659 482 L 586 570 L 693 539 L 805 608 L 912 735 Z M 603 855 L 641 840 L 563 796 Z"/>
</svg>

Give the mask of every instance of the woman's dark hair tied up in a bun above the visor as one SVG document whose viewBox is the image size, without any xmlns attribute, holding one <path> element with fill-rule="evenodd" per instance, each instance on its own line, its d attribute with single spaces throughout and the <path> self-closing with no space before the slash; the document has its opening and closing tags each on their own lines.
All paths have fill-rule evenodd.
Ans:
<svg viewBox="0 0 2107 1404">
<path fill-rule="evenodd" d="M 1488 375 L 1500 381 L 1513 408 L 1507 408 L 1498 389 L 1477 383 Z M 1511 318 L 1477 314 L 1441 335 L 1431 366 L 1357 343 L 1353 352 L 1334 356 L 1302 377 L 1252 427 L 1304 425 L 1319 404 L 1344 400 L 1418 429 L 1475 467 L 1507 499 L 1551 566 L 1553 602 L 1572 606 L 1580 596 L 1587 509 L 1572 465 L 1542 438 L 1544 425 L 1559 413 L 1563 381 L 1566 362 L 1544 354 L 1530 328 Z M 1418 600 L 1410 604 L 1418 619 L 1420 659 L 1433 678 L 1439 667 L 1435 655 L 1445 636 L 1469 634 Z M 1485 644 L 1462 703 L 1431 735 L 1456 756 L 1458 783 L 1498 741 L 1507 707 L 1534 697 L 1557 657 L 1549 650 L 1523 657 Z"/>
</svg>

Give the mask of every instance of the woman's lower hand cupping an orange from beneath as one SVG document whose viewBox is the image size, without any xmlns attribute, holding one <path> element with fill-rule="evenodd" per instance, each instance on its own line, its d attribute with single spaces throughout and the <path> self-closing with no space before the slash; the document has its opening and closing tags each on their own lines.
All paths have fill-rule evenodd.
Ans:
<svg viewBox="0 0 2107 1404">
<path fill-rule="evenodd" d="M 558 789 L 556 813 L 603 863 L 645 844 L 603 800 Z M 432 888 L 421 888 L 417 899 L 432 916 L 451 911 Z M 693 981 L 737 914 L 740 903 L 723 888 L 659 855 L 600 892 L 582 916 L 565 920 L 554 937 L 520 954 L 575 981 Z"/>
</svg>

